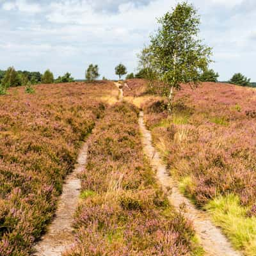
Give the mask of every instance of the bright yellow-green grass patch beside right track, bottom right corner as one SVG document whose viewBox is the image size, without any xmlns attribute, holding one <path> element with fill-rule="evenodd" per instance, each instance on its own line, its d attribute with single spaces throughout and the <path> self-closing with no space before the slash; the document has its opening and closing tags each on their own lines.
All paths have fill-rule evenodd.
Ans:
<svg viewBox="0 0 256 256">
<path fill-rule="evenodd" d="M 220 196 L 209 202 L 205 209 L 236 249 L 243 250 L 246 256 L 256 255 L 256 218 L 246 216 L 248 209 L 241 206 L 238 196 Z"/>
</svg>

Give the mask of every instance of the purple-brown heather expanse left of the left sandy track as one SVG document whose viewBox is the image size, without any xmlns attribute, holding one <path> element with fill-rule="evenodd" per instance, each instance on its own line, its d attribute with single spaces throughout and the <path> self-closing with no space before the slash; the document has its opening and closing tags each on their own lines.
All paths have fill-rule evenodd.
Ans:
<svg viewBox="0 0 256 256">
<path fill-rule="evenodd" d="M 0 255 L 31 254 L 54 214 L 81 140 L 104 113 L 106 84 L 50 84 L 0 97 Z"/>
</svg>

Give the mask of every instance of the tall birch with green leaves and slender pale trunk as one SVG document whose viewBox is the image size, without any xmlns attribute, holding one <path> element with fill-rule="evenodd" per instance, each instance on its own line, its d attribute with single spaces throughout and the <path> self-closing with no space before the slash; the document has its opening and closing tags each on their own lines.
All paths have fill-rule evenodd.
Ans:
<svg viewBox="0 0 256 256">
<path fill-rule="evenodd" d="M 198 39 L 200 17 L 192 4 L 177 4 L 158 23 L 159 29 L 148 47 L 150 62 L 159 81 L 168 86 L 168 109 L 172 111 L 174 90 L 179 90 L 181 83 L 199 83 L 200 73 L 211 62 L 211 48 Z"/>
</svg>

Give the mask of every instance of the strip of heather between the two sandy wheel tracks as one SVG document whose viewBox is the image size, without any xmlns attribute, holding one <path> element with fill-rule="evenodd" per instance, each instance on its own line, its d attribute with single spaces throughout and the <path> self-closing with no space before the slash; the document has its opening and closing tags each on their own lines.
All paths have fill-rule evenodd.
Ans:
<svg viewBox="0 0 256 256">
<path fill-rule="evenodd" d="M 106 110 L 88 141 L 76 243 L 65 256 L 191 255 L 191 223 L 175 213 L 143 156 L 138 110 Z"/>
</svg>

